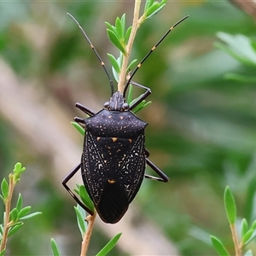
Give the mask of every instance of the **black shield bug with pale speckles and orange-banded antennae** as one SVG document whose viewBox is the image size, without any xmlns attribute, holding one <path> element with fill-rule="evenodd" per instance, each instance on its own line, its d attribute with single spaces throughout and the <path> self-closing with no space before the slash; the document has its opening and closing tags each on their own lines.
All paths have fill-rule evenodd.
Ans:
<svg viewBox="0 0 256 256">
<path fill-rule="evenodd" d="M 68 14 L 69 15 L 69 14 Z M 72 18 L 73 16 L 70 15 Z M 105 73 L 111 85 L 112 96 L 109 102 L 104 103 L 104 108 L 99 112 L 94 112 L 90 108 L 76 103 L 76 107 L 89 115 L 89 118 L 81 119 L 75 117 L 74 120 L 79 125 L 84 126 L 86 131 L 84 136 L 84 148 L 81 162 L 71 172 L 67 174 L 62 181 L 63 186 L 67 189 L 74 200 L 79 203 L 85 211 L 91 215 L 94 214 L 84 205 L 79 198 L 73 194 L 67 186 L 67 182 L 73 175 L 81 169 L 84 186 L 93 201 L 100 218 L 106 223 L 114 224 L 122 218 L 127 211 L 129 204 L 137 195 L 143 182 L 143 177 L 151 178 L 161 182 L 167 182 L 169 178 L 157 166 L 148 159 L 149 152 L 145 148 L 145 127 L 148 125 L 143 120 L 137 118 L 132 110 L 145 100 L 151 90 L 137 84 L 131 79 L 137 73 L 139 67 L 148 58 L 154 49 L 166 38 L 169 32 L 180 22 L 177 21 L 167 32 L 160 38 L 160 41 L 143 58 L 136 69 L 131 73 L 125 84 L 123 92 L 116 91 L 113 93 L 113 82 L 110 79 L 108 71 L 98 55 L 90 39 L 85 34 L 79 22 L 73 18 L 80 30 L 84 34 L 87 42 L 90 44 L 98 60 L 101 62 Z M 137 86 L 146 90 L 142 96 L 138 97 L 131 106 L 125 102 L 125 92 L 129 85 Z M 145 174 L 146 165 L 156 172 L 159 177 Z"/>
</svg>

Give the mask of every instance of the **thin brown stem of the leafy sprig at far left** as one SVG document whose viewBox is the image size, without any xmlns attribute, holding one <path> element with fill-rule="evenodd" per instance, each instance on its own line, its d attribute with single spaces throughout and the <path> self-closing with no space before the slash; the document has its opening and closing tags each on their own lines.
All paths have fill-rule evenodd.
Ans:
<svg viewBox="0 0 256 256">
<path fill-rule="evenodd" d="M 11 207 L 11 201 L 14 194 L 15 189 L 15 183 L 14 178 L 10 175 L 9 176 L 9 194 L 8 198 L 5 201 L 5 218 L 4 218 L 4 224 L 3 224 L 3 236 L 2 236 L 2 242 L 0 246 L 0 252 L 3 251 L 3 249 L 6 248 L 6 243 L 8 239 L 8 232 L 9 232 L 9 212 Z"/>
</svg>

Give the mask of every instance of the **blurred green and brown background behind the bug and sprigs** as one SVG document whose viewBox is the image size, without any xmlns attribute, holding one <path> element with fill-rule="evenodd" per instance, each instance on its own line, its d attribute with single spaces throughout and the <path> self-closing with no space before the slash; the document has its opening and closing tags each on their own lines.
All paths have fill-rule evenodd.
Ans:
<svg viewBox="0 0 256 256">
<path fill-rule="evenodd" d="M 110 71 L 106 54 L 118 51 L 108 41 L 104 21 L 113 24 L 126 13 L 131 24 L 132 11 L 132 1 L 0 2 L 0 177 L 7 177 L 20 161 L 27 170 L 16 191 L 24 196 L 24 205 L 43 212 L 9 239 L 8 255 L 51 255 L 51 237 L 62 255 L 79 255 L 75 202 L 61 187 L 82 151 L 83 138 L 70 121 L 75 115 L 84 117 L 75 102 L 100 110 L 110 88 L 66 13 L 79 20 Z M 236 197 L 239 216 L 249 224 L 256 217 L 255 83 L 224 79 L 227 72 L 253 69 L 213 45 L 219 41 L 217 32 L 255 38 L 255 21 L 228 1 L 168 2 L 138 30 L 132 57 L 143 59 L 184 15 L 189 19 L 173 30 L 134 78 L 153 91 L 148 97 L 153 103 L 138 116 L 149 123 L 150 159 L 170 182 L 143 182 L 128 211 L 135 212 L 134 223 L 126 217 L 117 225 L 98 219 L 90 255 L 112 232 L 124 232 L 125 237 L 125 224 L 130 232 L 143 221 L 146 230 L 148 224 L 153 226 L 179 255 L 215 255 L 209 234 L 234 253 L 224 213 L 226 185 Z M 157 233 L 148 233 L 157 242 Z M 137 230 L 129 236 L 139 241 L 142 234 Z M 110 255 L 131 255 L 132 245 L 122 246 L 129 236 L 121 237 Z M 256 253 L 256 243 L 250 247 Z"/>
</svg>

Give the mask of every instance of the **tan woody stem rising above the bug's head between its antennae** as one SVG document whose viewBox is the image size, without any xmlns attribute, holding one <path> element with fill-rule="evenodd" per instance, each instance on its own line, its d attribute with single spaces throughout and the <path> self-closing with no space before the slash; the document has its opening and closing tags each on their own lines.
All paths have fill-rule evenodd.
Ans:
<svg viewBox="0 0 256 256">
<path fill-rule="evenodd" d="M 131 55 L 131 47 L 132 47 L 132 44 L 134 42 L 134 38 L 136 36 L 137 29 L 141 25 L 141 23 L 138 22 L 140 6 L 141 6 L 141 0 L 135 0 L 134 12 L 133 12 L 133 20 L 132 20 L 132 26 L 131 26 L 131 35 L 130 35 L 128 44 L 126 45 L 125 54 L 123 55 L 123 63 L 122 63 L 121 71 L 120 71 L 120 75 L 119 75 L 118 90 L 120 92 L 123 92 L 124 88 L 125 88 L 126 69 L 128 67 L 129 57 Z"/>
</svg>

